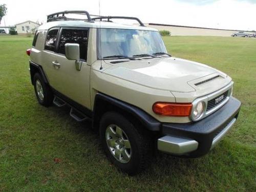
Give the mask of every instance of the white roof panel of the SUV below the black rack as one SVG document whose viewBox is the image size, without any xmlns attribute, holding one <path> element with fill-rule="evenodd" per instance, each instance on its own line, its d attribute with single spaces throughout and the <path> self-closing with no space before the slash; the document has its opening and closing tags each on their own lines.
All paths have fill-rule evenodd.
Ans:
<svg viewBox="0 0 256 192">
<path fill-rule="evenodd" d="M 135 29 L 135 30 L 146 30 L 146 31 L 158 31 L 157 29 L 150 27 L 134 26 L 134 25 L 124 25 L 114 22 L 87 22 L 84 20 L 65 20 L 65 21 L 55 21 L 48 22 L 41 25 L 37 30 L 48 30 L 52 27 L 85 27 L 85 28 L 112 28 L 112 29 Z"/>
</svg>

